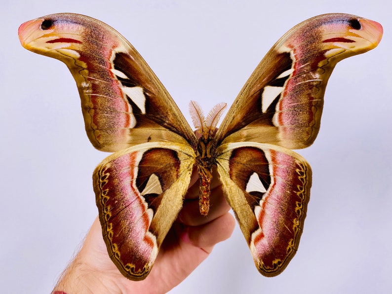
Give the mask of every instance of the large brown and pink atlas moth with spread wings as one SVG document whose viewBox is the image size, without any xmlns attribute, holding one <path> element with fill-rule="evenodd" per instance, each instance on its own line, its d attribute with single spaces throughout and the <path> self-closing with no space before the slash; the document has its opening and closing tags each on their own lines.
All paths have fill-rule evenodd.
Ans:
<svg viewBox="0 0 392 294">
<path fill-rule="evenodd" d="M 114 152 L 93 173 L 108 253 L 128 279 L 149 274 L 183 205 L 193 168 L 208 214 L 216 167 L 257 269 L 281 273 L 304 227 L 312 171 L 291 149 L 317 136 L 323 96 L 336 63 L 375 48 L 382 26 L 333 13 L 281 37 L 257 66 L 215 131 L 225 104 L 205 118 L 191 102 L 197 139 L 133 46 L 96 19 L 59 13 L 19 28 L 28 50 L 64 62 L 74 76 L 91 144 Z"/>
</svg>

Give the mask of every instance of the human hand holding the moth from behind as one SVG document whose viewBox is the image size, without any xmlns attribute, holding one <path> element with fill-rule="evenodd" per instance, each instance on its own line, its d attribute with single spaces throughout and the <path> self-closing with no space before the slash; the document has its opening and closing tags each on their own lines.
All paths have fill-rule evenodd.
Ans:
<svg viewBox="0 0 392 294">
<path fill-rule="evenodd" d="M 216 174 L 213 179 L 218 179 Z M 219 181 L 211 183 L 207 217 L 199 213 L 198 191 L 198 177 L 194 173 L 183 208 L 145 280 L 135 282 L 122 276 L 108 255 L 96 218 L 80 252 L 64 271 L 53 294 L 166 293 L 177 286 L 208 257 L 215 244 L 230 237 L 235 226 Z"/>
</svg>

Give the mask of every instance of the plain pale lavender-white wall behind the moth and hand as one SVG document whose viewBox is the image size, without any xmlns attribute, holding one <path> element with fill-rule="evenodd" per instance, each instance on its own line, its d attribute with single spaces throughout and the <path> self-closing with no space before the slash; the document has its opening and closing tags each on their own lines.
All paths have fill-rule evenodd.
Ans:
<svg viewBox="0 0 392 294">
<path fill-rule="evenodd" d="M 86 14 L 117 29 L 188 119 L 191 99 L 205 111 L 231 105 L 297 23 L 328 12 L 380 22 L 379 47 L 336 67 L 318 138 L 299 151 L 314 179 L 299 251 L 287 269 L 261 276 L 236 226 L 171 293 L 391 293 L 390 1 L 55 2 L 1 4 L 1 293 L 49 293 L 97 215 L 91 175 L 108 154 L 88 142 L 66 66 L 26 51 L 17 37 L 21 23 L 56 12 Z"/>
</svg>

